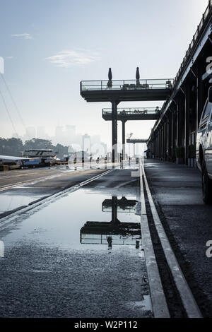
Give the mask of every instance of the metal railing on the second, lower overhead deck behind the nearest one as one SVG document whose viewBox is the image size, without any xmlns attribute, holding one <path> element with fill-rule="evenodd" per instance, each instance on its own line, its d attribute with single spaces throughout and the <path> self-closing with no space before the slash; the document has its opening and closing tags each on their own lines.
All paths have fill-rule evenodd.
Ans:
<svg viewBox="0 0 212 332">
<path fill-rule="evenodd" d="M 160 107 L 119 108 L 117 115 L 160 114 Z M 102 115 L 112 114 L 112 109 L 103 108 Z"/>
</svg>

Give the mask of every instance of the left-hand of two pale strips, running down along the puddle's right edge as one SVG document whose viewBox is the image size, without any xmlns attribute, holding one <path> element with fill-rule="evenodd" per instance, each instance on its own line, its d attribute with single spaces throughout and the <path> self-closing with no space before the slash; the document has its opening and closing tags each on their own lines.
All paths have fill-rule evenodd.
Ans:
<svg viewBox="0 0 212 332">
<path fill-rule="evenodd" d="M 170 318 L 169 309 L 163 292 L 163 285 L 160 280 L 158 264 L 155 258 L 151 233 L 148 227 L 148 218 L 146 215 L 146 204 L 143 191 L 143 170 L 140 165 L 140 183 L 141 183 L 141 238 L 146 259 L 146 268 L 148 274 L 148 283 L 151 292 L 151 301 L 153 314 L 155 318 Z"/>
</svg>

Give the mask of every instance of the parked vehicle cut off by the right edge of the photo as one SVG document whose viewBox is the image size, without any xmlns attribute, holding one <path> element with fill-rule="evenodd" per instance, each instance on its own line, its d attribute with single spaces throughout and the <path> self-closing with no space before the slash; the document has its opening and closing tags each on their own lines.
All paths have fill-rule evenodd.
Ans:
<svg viewBox="0 0 212 332">
<path fill-rule="evenodd" d="M 203 200 L 212 202 L 212 86 L 201 114 L 196 138 L 196 162 L 201 170 Z"/>
</svg>

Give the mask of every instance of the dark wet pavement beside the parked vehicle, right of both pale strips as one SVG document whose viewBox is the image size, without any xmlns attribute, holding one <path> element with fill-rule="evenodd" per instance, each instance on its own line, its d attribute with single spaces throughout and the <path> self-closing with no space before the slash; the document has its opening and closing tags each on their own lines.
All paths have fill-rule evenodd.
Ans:
<svg viewBox="0 0 212 332">
<path fill-rule="evenodd" d="M 201 198 L 199 170 L 146 160 L 146 176 L 177 260 L 204 316 L 212 316 L 212 206 Z"/>
</svg>

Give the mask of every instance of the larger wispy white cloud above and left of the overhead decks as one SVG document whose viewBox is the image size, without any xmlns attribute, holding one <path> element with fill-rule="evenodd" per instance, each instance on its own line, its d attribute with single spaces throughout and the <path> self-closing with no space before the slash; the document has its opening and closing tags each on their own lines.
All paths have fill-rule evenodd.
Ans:
<svg viewBox="0 0 212 332">
<path fill-rule="evenodd" d="M 56 64 L 57 67 L 70 67 L 82 64 L 91 64 L 99 59 L 98 53 L 92 53 L 90 51 L 64 51 L 52 57 L 46 58 L 47 61 L 52 64 Z"/>
</svg>

